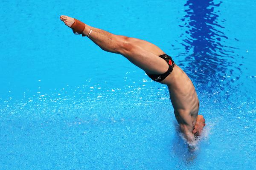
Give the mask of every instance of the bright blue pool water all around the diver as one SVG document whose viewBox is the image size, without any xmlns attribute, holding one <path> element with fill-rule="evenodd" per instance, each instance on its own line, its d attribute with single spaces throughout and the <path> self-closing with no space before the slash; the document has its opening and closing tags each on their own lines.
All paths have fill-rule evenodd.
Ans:
<svg viewBox="0 0 256 170">
<path fill-rule="evenodd" d="M 256 169 L 253 4 L 2 1 L 0 170 Z M 61 14 L 171 55 L 206 118 L 198 150 L 180 137 L 165 85 L 74 35 Z"/>
</svg>

